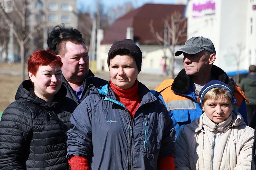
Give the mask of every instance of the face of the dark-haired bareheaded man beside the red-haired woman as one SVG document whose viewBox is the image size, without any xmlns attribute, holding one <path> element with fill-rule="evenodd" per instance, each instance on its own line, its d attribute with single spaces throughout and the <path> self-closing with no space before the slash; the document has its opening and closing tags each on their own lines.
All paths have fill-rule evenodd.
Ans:
<svg viewBox="0 0 256 170">
<path fill-rule="evenodd" d="M 60 52 L 60 54 L 62 54 Z M 79 83 L 89 72 L 89 56 L 85 44 L 66 43 L 66 53 L 61 55 L 62 74 L 70 83 Z"/>
</svg>

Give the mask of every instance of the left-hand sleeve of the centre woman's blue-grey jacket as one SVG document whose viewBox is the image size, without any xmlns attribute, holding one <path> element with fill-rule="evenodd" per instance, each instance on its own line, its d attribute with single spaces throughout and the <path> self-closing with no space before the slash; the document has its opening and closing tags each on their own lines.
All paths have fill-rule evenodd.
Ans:
<svg viewBox="0 0 256 170">
<path fill-rule="evenodd" d="M 83 100 L 71 115 L 70 122 L 73 128 L 67 131 L 67 158 L 71 156 L 83 156 L 87 159 L 91 159 L 93 155 L 92 107 L 90 105 L 96 103 L 96 101 L 91 100 L 90 102 L 90 99 L 91 95 Z"/>
</svg>

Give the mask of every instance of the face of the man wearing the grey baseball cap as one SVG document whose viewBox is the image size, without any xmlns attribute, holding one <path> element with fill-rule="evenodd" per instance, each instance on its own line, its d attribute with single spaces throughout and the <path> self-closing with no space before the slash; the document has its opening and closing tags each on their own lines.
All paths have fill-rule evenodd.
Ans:
<svg viewBox="0 0 256 170">
<path fill-rule="evenodd" d="M 204 50 L 196 54 L 183 53 L 183 56 L 184 69 L 189 76 L 202 75 L 211 68 L 210 55 L 205 56 Z"/>
</svg>

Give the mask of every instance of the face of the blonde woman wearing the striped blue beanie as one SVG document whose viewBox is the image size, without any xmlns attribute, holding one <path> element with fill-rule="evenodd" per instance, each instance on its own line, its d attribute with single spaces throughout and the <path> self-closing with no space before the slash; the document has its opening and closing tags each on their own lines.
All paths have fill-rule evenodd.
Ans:
<svg viewBox="0 0 256 170">
<path fill-rule="evenodd" d="M 212 122 L 219 124 L 225 121 L 231 114 L 232 103 L 222 95 L 217 100 L 206 100 L 203 105 L 203 110 Z"/>
</svg>

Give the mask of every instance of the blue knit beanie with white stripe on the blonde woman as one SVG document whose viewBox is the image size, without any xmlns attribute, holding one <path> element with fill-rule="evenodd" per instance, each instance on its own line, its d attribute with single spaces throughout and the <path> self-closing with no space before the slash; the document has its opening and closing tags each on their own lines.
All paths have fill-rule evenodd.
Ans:
<svg viewBox="0 0 256 170">
<path fill-rule="evenodd" d="M 232 101 L 234 101 L 234 103 L 235 103 L 234 95 L 233 95 L 233 92 L 230 90 L 230 87 L 227 84 L 225 84 L 225 83 L 223 83 L 223 82 L 221 82 L 219 80 L 212 80 L 212 81 L 209 81 L 206 85 L 204 85 L 204 87 L 202 88 L 202 90 L 199 93 L 199 98 L 200 98 L 201 106 L 203 104 L 204 95 L 210 89 L 215 88 L 215 87 L 221 87 L 221 88 L 227 89 L 230 92 L 231 96 L 232 96 Z"/>
</svg>

